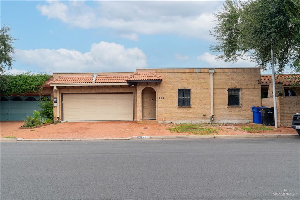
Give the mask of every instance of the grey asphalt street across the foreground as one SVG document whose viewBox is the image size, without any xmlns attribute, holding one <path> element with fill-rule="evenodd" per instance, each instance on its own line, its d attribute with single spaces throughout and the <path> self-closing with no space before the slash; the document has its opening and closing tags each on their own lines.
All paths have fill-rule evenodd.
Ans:
<svg viewBox="0 0 300 200">
<path fill-rule="evenodd" d="M 299 159 L 300 138 L 1 142 L 1 199 L 299 199 Z"/>
</svg>

